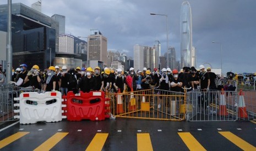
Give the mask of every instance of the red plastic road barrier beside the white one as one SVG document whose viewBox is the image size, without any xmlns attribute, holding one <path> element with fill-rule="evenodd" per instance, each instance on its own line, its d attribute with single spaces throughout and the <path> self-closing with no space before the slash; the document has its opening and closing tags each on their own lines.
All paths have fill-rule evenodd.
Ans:
<svg viewBox="0 0 256 151">
<path fill-rule="evenodd" d="M 70 121 L 105 120 L 108 117 L 106 116 L 105 101 L 104 92 L 80 92 L 80 95 L 75 95 L 69 91 L 67 94 L 67 119 Z"/>
</svg>

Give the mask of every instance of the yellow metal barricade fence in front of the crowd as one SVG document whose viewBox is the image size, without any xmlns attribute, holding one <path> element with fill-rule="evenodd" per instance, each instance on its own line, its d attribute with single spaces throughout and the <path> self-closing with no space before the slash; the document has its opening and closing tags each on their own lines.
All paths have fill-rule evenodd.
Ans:
<svg viewBox="0 0 256 151">
<path fill-rule="evenodd" d="M 184 120 L 186 98 L 184 93 L 158 89 L 109 94 L 111 113 L 116 117 Z"/>
</svg>

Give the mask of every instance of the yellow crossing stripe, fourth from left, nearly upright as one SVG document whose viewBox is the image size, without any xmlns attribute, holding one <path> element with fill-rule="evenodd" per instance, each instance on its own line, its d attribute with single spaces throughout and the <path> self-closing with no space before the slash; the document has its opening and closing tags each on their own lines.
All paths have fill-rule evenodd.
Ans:
<svg viewBox="0 0 256 151">
<path fill-rule="evenodd" d="M 140 150 L 153 150 L 149 133 L 137 133 L 137 148 Z"/>
</svg>

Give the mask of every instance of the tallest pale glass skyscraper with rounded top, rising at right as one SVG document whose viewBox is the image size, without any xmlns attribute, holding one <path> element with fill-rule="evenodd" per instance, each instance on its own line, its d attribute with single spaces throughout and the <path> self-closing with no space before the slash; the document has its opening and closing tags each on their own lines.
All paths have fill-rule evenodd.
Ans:
<svg viewBox="0 0 256 151">
<path fill-rule="evenodd" d="M 192 14 L 188 1 L 181 5 L 181 68 L 191 66 Z"/>
</svg>

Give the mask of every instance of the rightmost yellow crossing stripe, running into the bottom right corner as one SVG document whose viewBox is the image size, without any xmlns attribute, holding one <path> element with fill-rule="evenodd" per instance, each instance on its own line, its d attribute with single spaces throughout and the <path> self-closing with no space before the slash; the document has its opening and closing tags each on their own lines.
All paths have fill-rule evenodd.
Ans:
<svg viewBox="0 0 256 151">
<path fill-rule="evenodd" d="M 242 150 L 256 150 L 254 146 L 242 140 L 240 137 L 236 136 L 232 132 L 219 132 L 222 136 L 226 137 L 227 140 L 234 143 L 236 146 L 241 148 Z"/>
</svg>

